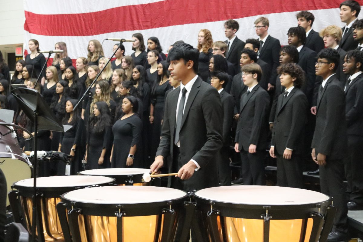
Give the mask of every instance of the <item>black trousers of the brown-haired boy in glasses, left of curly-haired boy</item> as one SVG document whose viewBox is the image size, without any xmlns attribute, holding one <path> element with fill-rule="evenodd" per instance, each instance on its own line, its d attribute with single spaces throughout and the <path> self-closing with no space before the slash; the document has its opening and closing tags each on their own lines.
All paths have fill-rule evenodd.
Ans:
<svg viewBox="0 0 363 242">
<path fill-rule="evenodd" d="M 241 169 L 244 185 L 266 185 L 265 183 L 265 155 L 266 151 L 258 150 L 249 153 L 241 149 Z"/>
</svg>

